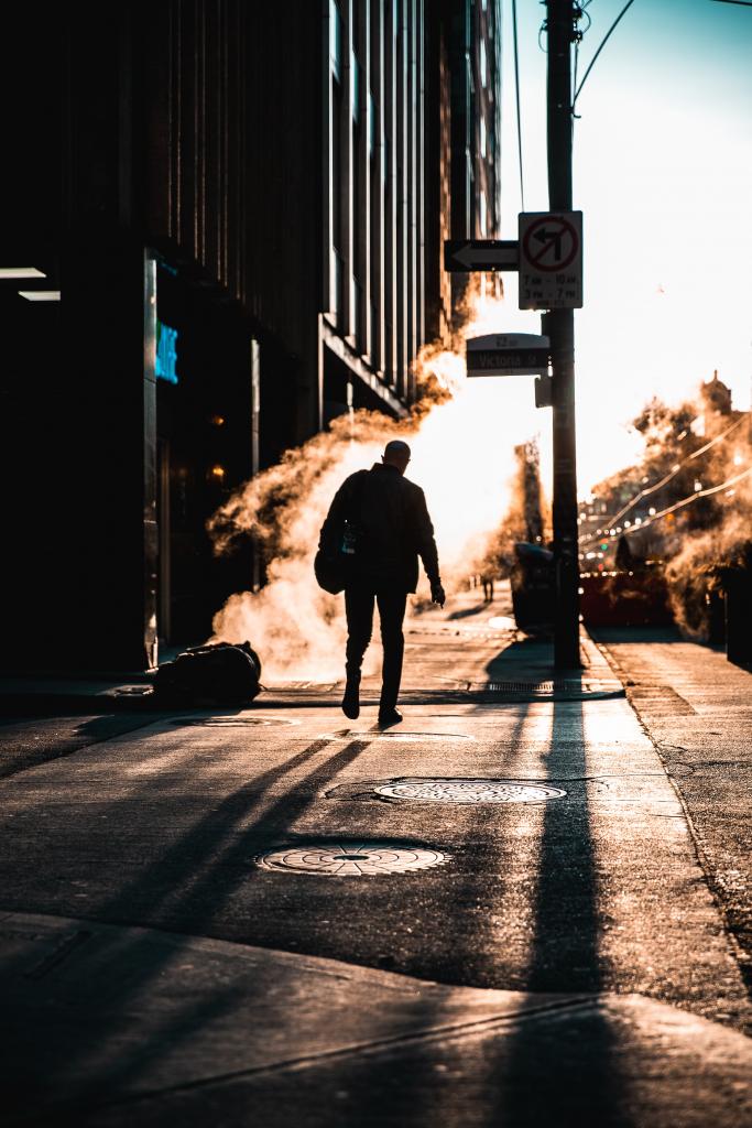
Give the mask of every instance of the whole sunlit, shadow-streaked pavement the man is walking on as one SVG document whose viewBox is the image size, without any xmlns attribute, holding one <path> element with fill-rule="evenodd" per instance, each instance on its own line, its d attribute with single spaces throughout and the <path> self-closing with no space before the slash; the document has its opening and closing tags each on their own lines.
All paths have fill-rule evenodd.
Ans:
<svg viewBox="0 0 752 1128">
<path fill-rule="evenodd" d="M 702 788 L 708 747 L 749 772 L 752 676 L 675 638 L 584 638 L 584 671 L 556 677 L 550 643 L 466 602 L 408 626 L 393 732 L 375 705 L 345 722 L 337 687 L 290 687 L 79 717 L 64 758 L 19 758 L 0 781 L 9 1123 L 747 1128 L 752 1006 L 709 860 L 746 872 L 749 792 Z M 532 792 L 422 801 L 442 779 Z M 345 880 L 391 847 L 442 864 Z"/>
</svg>

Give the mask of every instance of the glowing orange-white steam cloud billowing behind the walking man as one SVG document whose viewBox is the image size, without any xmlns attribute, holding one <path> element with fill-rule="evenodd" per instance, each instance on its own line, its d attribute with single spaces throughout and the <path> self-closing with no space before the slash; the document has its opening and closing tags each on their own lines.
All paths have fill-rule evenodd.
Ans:
<svg viewBox="0 0 752 1128">
<path fill-rule="evenodd" d="M 498 331 L 501 306 L 476 300 L 462 336 Z M 460 340 L 452 350 L 423 351 L 417 363 L 423 399 L 408 420 L 365 411 L 340 416 L 329 431 L 246 483 L 212 518 L 218 553 L 251 535 L 268 562 L 266 585 L 231 596 L 213 624 L 214 638 L 250 640 L 265 681 L 342 677 L 344 600 L 318 588 L 313 556 L 335 492 L 347 475 L 378 461 L 389 439 L 402 438 L 412 447 L 408 476 L 425 490 L 445 587 L 458 585 L 483 556 L 510 505 L 514 446 L 538 421 L 528 380 L 467 381 L 461 347 Z M 423 575 L 421 584 L 427 593 Z M 373 651 L 369 654 L 366 673 L 375 662 Z"/>
</svg>

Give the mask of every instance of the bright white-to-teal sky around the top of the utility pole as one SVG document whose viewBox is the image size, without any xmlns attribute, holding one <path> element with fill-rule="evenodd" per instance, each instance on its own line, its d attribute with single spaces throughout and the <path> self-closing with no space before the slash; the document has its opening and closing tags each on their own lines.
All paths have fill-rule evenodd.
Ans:
<svg viewBox="0 0 752 1128">
<path fill-rule="evenodd" d="M 580 49 L 581 77 L 625 2 L 587 6 L 592 27 Z M 512 0 L 502 3 L 502 238 L 513 239 L 521 205 Z M 543 16 L 538 0 L 517 0 L 527 211 L 548 208 L 546 55 L 538 46 Z M 750 406 L 752 8 L 635 0 L 587 78 L 577 113 L 574 206 L 584 213 L 585 306 L 575 314 L 575 332 L 584 495 L 632 461 L 627 424 L 651 396 L 676 402 L 718 369 L 734 405 Z M 516 308 L 516 275 L 506 273 L 504 282 L 503 329 L 540 332 L 539 315 Z M 523 388 L 531 398 L 532 387 L 524 382 L 521 394 Z M 541 423 L 547 444 L 548 421 Z"/>
</svg>

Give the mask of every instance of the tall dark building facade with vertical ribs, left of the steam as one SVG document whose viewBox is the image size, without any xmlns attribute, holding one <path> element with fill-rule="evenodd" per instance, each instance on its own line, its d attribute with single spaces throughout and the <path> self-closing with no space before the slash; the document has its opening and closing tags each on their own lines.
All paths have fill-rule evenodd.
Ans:
<svg viewBox="0 0 752 1128">
<path fill-rule="evenodd" d="M 82 2 L 6 42 L 6 666 L 143 669 L 259 582 L 205 532 L 232 488 L 409 411 L 442 240 L 496 232 L 498 6 Z"/>
</svg>

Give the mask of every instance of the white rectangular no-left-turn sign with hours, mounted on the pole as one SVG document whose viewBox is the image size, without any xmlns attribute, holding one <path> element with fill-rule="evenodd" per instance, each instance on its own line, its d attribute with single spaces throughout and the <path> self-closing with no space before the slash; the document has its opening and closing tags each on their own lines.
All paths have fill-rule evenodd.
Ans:
<svg viewBox="0 0 752 1128">
<path fill-rule="evenodd" d="M 582 309 L 582 212 L 520 213 L 520 309 Z"/>
</svg>

